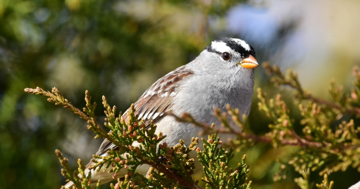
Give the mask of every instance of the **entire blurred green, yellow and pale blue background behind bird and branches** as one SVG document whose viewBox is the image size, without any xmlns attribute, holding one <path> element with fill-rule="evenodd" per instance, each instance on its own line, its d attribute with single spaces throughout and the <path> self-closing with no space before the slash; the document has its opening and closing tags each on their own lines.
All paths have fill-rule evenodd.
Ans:
<svg viewBox="0 0 360 189">
<path fill-rule="evenodd" d="M 360 64 L 359 18 L 358 0 L 0 0 L 0 189 L 58 189 L 65 180 L 54 150 L 75 168 L 102 142 L 84 120 L 26 87 L 56 86 L 78 108 L 87 89 L 102 122 L 102 95 L 125 111 L 212 40 L 236 37 L 255 48 L 258 62 L 294 69 L 305 89 L 329 99 L 329 80 L 349 90 L 351 68 Z M 285 94 L 301 119 L 291 89 L 274 88 L 261 67 L 255 78 L 255 88 Z M 268 131 L 256 93 L 249 122 L 258 134 Z M 234 165 L 247 154 L 253 189 L 298 188 L 291 169 L 273 181 L 276 160 L 293 150 L 259 143 L 237 153 Z M 329 178 L 334 188 L 348 188 L 360 174 L 348 168 Z M 310 180 L 322 178 L 315 172 Z"/>
</svg>

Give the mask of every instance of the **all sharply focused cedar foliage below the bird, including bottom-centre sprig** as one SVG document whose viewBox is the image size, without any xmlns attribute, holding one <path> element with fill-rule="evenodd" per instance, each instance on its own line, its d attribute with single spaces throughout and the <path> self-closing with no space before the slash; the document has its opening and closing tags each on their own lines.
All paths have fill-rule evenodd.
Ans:
<svg viewBox="0 0 360 189">
<path fill-rule="evenodd" d="M 184 141 L 180 140 L 175 147 L 168 147 L 167 143 L 160 144 L 166 136 L 156 132 L 156 125 L 150 121 L 150 125 L 145 127 L 144 120 L 138 122 L 138 115 L 135 115 L 134 104 L 131 105 L 125 121 L 122 113 L 116 117 L 116 107 L 110 107 L 106 98 L 103 96 L 103 105 L 106 109 L 105 126 L 111 132 L 105 132 L 96 122 L 94 115 L 96 103 L 91 104 L 89 92 L 85 92 L 86 108 L 83 112 L 75 108 L 71 102 L 65 99 L 60 92 L 54 87 L 51 93 L 44 91 L 40 87 L 36 89 L 26 88 L 26 92 L 48 96 L 48 101 L 60 105 L 70 111 L 78 114 L 81 118 L 87 120 L 87 128 L 95 132 L 95 138 L 104 138 L 116 144 L 116 149 L 108 151 L 109 156 L 93 155 L 92 163 L 87 170 L 113 172 L 113 179 L 117 178 L 117 173 L 125 168 L 128 172 L 125 180 L 113 185 L 112 189 L 119 188 L 200 188 L 198 181 L 194 181 L 194 159 L 190 158 L 189 152 L 196 150 L 201 164 L 204 166 L 205 178 L 202 179 L 207 183 L 207 188 L 246 188 L 249 189 L 250 183 L 245 184 L 248 168 L 245 164 L 245 156 L 238 164 L 235 171 L 228 167 L 230 159 L 233 157 L 232 151 L 227 152 L 225 148 L 218 148 L 222 144 L 220 138 L 216 135 L 209 136 L 208 141 L 204 142 L 204 151 L 195 147 L 198 144 L 198 138 L 193 138 L 189 148 L 186 148 Z M 86 114 L 87 115 L 86 115 Z M 139 146 L 133 146 L 138 143 Z M 78 160 L 78 171 L 71 171 L 68 160 L 63 158 L 62 153 L 56 150 L 60 164 L 64 167 L 62 175 L 69 181 L 72 181 L 76 188 L 90 188 L 91 172 L 86 175 L 86 169 Z M 124 154 L 126 154 L 124 156 Z M 136 171 L 141 165 L 149 165 L 150 169 L 146 176 Z M 110 168 L 110 166 L 112 168 Z M 206 167 L 206 168 L 205 168 Z M 156 170 L 156 171 L 155 171 Z M 100 185 L 97 181 L 96 187 Z"/>
</svg>

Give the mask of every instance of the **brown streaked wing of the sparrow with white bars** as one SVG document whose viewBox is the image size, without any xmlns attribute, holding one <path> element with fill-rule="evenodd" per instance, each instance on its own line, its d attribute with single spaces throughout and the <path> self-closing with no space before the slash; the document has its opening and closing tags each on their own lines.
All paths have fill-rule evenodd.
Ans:
<svg viewBox="0 0 360 189">
<path fill-rule="evenodd" d="M 149 125 L 150 120 L 154 120 L 157 123 L 164 116 L 164 113 L 169 111 L 172 107 L 172 98 L 176 96 L 179 86 L 179 81 L 186 77 L 193 75 L 193 72 L 186 69 L 185 66 L 181 66 L 174 71 L 163 76 L 157 80 L 145 93 L 134 103 L 136 109 L 135 114 L 139 114 L 139 120 L 144 119 L 145 127 Z M 127 121 L 127 112 L 125 111 L 123 118 Z M 105 139 L 101 144 L 97 156 L 103 156 L 111 148 L 117 149 L 116 145 Z M 87 165 L 89 166 L 90 163 Z"/>
</svg>

